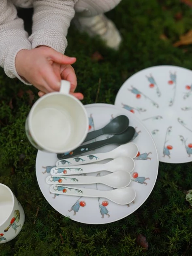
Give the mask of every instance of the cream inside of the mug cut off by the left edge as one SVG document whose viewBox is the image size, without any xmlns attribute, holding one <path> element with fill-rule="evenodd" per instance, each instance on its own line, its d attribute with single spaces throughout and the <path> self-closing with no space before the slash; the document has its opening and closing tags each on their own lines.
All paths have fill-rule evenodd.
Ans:
<svg viewBox="0 0 192 256">
<path fill-rule="evenodd" d="M 13 205 L 14 199 L 11 189 L 0 184 L 0 226 L 10 217 Z"/>
</svg>

